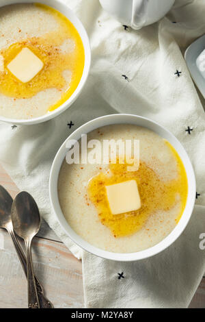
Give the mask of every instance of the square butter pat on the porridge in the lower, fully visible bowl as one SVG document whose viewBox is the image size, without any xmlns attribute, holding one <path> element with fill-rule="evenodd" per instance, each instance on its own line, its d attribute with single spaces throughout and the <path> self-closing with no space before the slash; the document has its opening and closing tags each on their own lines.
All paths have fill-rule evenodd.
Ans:
<svg viewBox="0 0 205 322">
<path fill-rule="evenodd" d="M 111 184 L 111 186 L 105 186 L 105 188 L 112 214 L 122 214 L 123 212 L 138 210 L 141 207 L 137 182 L 135 180 Z"/>
</svg>

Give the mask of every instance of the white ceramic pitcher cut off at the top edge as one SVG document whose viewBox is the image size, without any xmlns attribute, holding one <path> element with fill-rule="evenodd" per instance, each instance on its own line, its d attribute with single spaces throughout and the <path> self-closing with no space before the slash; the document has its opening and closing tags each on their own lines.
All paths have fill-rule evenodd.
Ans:
<svg viewBox="0 0 205 322">
<path fill-rule="evenodd" d="M 159 21 L 175 0 L 100 0 L 102 8 L 133 29 Z"/>
</svg>

